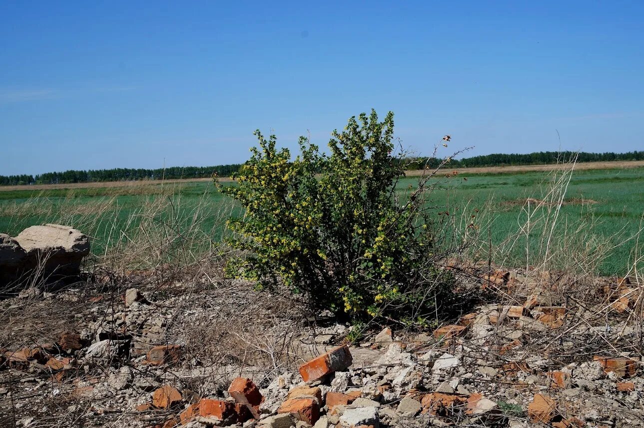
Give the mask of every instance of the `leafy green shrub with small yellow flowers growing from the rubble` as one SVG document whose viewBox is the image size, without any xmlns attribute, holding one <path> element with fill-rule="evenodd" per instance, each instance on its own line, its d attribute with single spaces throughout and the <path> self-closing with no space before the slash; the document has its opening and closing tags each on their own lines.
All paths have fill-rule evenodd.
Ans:
<svg viewBox="0 0 644 428">
<path fill-rule="evenodd" d="M 393 113 L 352 117 L 334 131 L 323 154 L 307 138 L 291 161 L 276 137 L 254 135 L 259 147 L 223 193 L 241 202 L 229 220 L 231 244 L 245 256 L 232 274 L 265 287 L 282 283 L 317 308 L 353 319 L 388 317 L 424 323 L 434 316 L 446 276 L 435 269 L 435 227 L 426 211 L 429 175 L 403 195 L 393 156 Z"/>
</svg>

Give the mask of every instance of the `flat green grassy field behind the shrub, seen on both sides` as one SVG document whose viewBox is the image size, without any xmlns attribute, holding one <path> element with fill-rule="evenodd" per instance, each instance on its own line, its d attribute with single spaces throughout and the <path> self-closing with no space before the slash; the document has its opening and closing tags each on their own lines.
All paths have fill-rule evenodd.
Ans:
<svg viewBox="0 0 644 428">
<path fill-rule="evenodd" d="M 543 232 L 549 235 L 552 229 L 547 245 L 554 265 L 561 254 L 574 258 L 592 253 L 594 245 L 595 253 L 606 253 L 598 273 L 629 272 L 644 214 L 644 168 L 574 172 L 559 213 L 556 204 L 536 208 L 538 201 L 525 203 L 527 198 L 548 199 L 549 179 L 544 172 L 437 179 L 430 204 L 436 218 L 452 220 L 459 233 L 473 223 L 467 231 L 469 236 L 478 233 L 478 257 L 489 254 L 504 265 L 531 264 L 543 256 Z M 399 193 L 416 182 L 401 179 Z M 526 231 L 528 207 L 535 217 Z M 149 243 L 138 253 L 155 245 L 185 248 L 186 242 L 213 247 L 227 215 L 238 212 L 209 182 L 0 192 L 0 231 L 15 236 L 33 224 L 70 224 L 93 237 L 97 256 L 133 247 L 142 236 Z"/>
</svg>

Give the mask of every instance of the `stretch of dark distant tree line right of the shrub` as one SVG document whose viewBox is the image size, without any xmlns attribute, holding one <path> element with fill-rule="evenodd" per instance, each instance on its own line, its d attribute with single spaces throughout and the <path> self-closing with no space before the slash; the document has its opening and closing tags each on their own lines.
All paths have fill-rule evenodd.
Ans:
<svg viewBox="0 0 644 428">
<path fill-rule="evenodd" d="M 535 152 L 529 154 L 489 154 L 482 156 L 465 157 L 464 159 L 451 159 L 450 168 L 472 168 L 475 166 L 510 166 L 510 165 L 549 165 L 573 159 L 577 156 L 578 162 L 605 162 L 605 161 L 642 161 L 643 152 L 627 153 L 587 153 L 587 152 Z M 422 169 L 425 164 L 436 168 L 443 159 L 437 157 L 408 157 L 412 161 L 408 169 Z"/>
</svg>

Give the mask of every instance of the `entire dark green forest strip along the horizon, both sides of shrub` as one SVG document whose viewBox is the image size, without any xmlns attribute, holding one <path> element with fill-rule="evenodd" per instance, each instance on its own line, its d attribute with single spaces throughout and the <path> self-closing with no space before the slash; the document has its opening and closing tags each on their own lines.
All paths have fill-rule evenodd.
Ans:
<svg viewBox="0 0 644 428">
<path fill-rule="evenodd" d="M 535 152 L 529 154 L 489 154 L 484 156 L 451 159 L 450 168 L 471 168 L 474 166 L 509 166 L 509 165 L 548 165 L 562 159 L 571 159 L 576 152 Z M 585 153 L 578 154 L 578 162 L 603 161 L 642 161 L 644 151 L 627 153 Z M 406 158 L 404 161 L 415 161 L 411 169 L 423 168 L 427 163 L 430 168 L 437 167 L 442 159 L 439 158 Z M 173 166 L 171 168 L 112 168 L 109 170 L 69 170 L 64 172 L 47 172 L 39 175 L 0 175 L 0 186 L 15 186 L 17 184 L 67 184 L 91 183 L 104 181 L 135 181 L 161 179 L 190 179 L 209 178 L 213 174 L 220 177 L 230 177 L 238 171 L 242 164 L 216 166 Z"/>
</svg>

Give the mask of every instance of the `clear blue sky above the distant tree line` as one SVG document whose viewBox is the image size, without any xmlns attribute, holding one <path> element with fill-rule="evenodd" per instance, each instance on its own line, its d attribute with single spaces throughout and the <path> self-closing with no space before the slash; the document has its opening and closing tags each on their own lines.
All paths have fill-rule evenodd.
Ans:
<svg viewBox="0 0 644 428">
<path fill-rule="evenodd" d="M 470 154 L 644 150 L 644 2 L 0 3 L 0 174 L 240 163 L 349 116 Z M 447 150 L 447 149 L 446 149 Z"/>
</svg>

